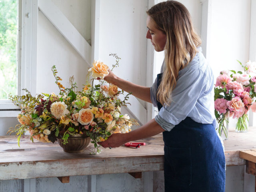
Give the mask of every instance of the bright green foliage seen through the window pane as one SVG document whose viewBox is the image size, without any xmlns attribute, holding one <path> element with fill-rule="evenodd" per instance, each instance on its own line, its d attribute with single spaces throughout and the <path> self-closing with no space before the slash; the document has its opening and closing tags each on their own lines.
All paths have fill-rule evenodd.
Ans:
<svg viewBox="0 0 256 192">
<path fill-rule="evenodd" d="M 0 0 L 0 99 L 17 94 L 17 0 Z"/>
</svg>

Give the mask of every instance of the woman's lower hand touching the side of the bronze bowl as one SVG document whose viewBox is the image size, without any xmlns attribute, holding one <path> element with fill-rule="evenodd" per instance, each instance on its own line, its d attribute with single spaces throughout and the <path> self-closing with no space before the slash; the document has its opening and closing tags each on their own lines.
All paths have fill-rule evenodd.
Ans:
<svg viewBox="0 0 256 192">
<path fill-rule="evenodd" d="M 98 142 L 98 144 L 104 148 L 120 147 L 121 145 L 126 143 L 125 136 L 126 136 L 125 133 L 114 133 L 111 136 L 109 136 L 107 140 L 103 142 Z"/>
</svg>

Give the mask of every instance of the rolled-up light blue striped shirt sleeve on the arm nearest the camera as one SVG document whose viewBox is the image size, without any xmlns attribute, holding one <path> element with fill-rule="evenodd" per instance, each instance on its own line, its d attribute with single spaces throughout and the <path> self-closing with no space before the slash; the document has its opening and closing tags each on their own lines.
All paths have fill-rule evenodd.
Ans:
<svg viewBox="0 0 256 192">
<path fill-rule="evenodd" d="M 196 105 L 206 82 L 204 73 L 199 68 L 180 71 L 176 87 L 172 91 L 170 106 L 164 105 L 155 117 L 156 122 L 170 131 L 175 125 L 184 120 Z"/>
</svg>

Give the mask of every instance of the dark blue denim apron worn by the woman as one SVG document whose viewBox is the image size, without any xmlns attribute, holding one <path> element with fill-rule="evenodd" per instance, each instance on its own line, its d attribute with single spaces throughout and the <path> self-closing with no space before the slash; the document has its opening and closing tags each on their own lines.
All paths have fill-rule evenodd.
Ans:
<svg viewBox="0 0 256 192">
<path fill-rule="evenodd" d="M 162 73 L 157 75 L 157 88 Z M 157 102 L 158 111 L 162 108 Z M 165 192 L 224 192 L 225 156 L 212 124 L 186 117 L 163 132 Z"/>
</svg>

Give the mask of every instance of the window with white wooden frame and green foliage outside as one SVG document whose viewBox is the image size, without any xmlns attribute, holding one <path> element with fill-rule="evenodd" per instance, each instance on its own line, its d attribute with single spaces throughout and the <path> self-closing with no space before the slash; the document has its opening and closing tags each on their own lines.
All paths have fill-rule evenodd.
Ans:
<svg viewBox="0 0 256 192">
<path fill-rule="evenodd" d="M 19 109 L 9 93 L 36 94 L 37 23 L 38 0 L 0 0 L 0 117 Z"/>
</svg>

